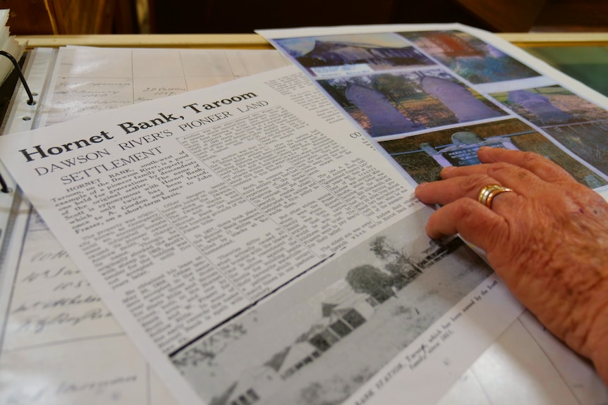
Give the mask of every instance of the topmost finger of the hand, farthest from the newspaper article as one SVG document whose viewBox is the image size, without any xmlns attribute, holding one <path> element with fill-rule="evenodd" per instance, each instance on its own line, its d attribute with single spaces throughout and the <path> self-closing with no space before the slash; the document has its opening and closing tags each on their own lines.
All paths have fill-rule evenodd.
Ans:
<svg viewBox="0 0 608 405">
<path fill-rule="evenodd" d="M 478 156 L 482 163 L 511 163 L 525 168 L 546 182 L 576 181 L 564 168 L 533 152 L 482 147 Z"/>
</svg>

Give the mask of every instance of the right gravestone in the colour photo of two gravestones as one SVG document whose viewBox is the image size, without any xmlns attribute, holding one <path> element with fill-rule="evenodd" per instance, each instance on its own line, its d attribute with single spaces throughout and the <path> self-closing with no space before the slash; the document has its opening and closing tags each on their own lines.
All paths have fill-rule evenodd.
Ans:
<svg viewBox="0 0 608 405">
<path fill-rule="evenodd" d="M 473 96 L 466 87 L 450 80 L 425 76 L 420 79 L 420 85 L 428 95 L 449 108 L 460 123 L 502 115 L 500 111 L 490 108 Z"/>
</svg>

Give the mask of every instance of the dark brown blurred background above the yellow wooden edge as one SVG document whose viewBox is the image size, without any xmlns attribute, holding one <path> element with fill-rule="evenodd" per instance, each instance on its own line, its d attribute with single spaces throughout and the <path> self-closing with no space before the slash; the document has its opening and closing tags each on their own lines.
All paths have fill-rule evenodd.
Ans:
<svg viewBox="0 0 608 405">
<path fill-rule="evenodd" d="M 607 0 L 0 0 L 15 35 L 251 33 L 463 23 L 493 32 L 608 31 Z"/>
</svg>

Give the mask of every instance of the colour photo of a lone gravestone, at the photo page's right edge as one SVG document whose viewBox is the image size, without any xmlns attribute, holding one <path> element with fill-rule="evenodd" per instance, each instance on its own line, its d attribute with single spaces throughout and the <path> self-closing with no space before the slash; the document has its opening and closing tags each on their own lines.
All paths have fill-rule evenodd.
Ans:
<svg viewBox="0 0 608 405">
<path fill-rule="evenodd" d="M 608 175 L 608 111 L 561 86 L 491 96 Z"/>
</svg>

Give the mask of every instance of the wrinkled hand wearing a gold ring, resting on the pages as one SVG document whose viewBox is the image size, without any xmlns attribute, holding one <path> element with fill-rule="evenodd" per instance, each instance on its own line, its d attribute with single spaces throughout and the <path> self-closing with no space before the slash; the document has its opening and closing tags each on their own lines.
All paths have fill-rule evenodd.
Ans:
<svg viewBox="0 0 608 405">
<path fill-rule="evenodd" d="M 482 164 L 442 170 L 416 188 L 441 204 L 427 223 L 487 254 L 511 292 L 547 329 L 587 356 L 608 384 L 608 203 L 566 170 L 531 152 L 484 147 Z M 485 185 L 514 192 L 478 203 Z"/>
</svg>

